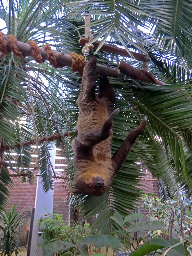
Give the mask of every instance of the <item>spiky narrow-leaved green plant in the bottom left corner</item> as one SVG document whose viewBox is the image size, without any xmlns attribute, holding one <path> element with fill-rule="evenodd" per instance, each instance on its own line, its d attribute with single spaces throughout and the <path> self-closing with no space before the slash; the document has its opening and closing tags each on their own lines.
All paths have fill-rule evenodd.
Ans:
<svg viewBox="0 0 192 256">
<path fill-rule="evenodd" d="M 14 252 L 18 255 L 20 249 L 20 240 L 17 235 L 20 234 L 21 214 L 23 211 L 16 213 L 16 205 L 11 205 L 10 212 L 7 213 L 4 208 L 0 211 L 0 251 L 1 256 L 11 256 Z"/>
</svg>

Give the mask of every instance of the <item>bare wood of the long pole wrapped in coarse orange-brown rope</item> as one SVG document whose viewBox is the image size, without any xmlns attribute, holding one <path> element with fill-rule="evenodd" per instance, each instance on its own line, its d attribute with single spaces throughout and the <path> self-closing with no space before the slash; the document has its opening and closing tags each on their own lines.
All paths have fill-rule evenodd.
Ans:
<svg viewBox="0 0 192 256">
<path fill-rule="evenodd" d="M 29 44 L 26 44 L 26 43 L 23 43 L 20 41 L 17 41 L 16 44 L 17 44 L 19 52 L 22 52 L 22 54 L 25 56 L 33 57 L 32 48 Z M 8 44 L 7 44 L 7 50 L 9 52 L 11 52 L 11 48 Z M 44 50 L 44 48 L 40 47 L 40 53 L 41 53 L 43 60 L 47 60 L 47 52 Z M 60 66 L 64 67 L 64 66 L 72 65 L 71 55 L 68 55 L 63 52 L 57 52 L 57 51 L 53 51 L 53 54 L 56 57 L 57 62 Z M 109 68 L 105 65 L 100 65 L 100 64 L 97 64 L 96 68 L 97 68 L 98 73 L 102 74 L 104 76 L 117 77 L 119 75 L 119 70 L 115 69 L 115 68 Z"/>
</svg>

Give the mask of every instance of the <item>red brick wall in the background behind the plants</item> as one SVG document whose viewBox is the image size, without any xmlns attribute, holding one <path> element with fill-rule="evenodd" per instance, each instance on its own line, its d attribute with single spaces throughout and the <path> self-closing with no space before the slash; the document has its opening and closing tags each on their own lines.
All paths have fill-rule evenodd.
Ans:
<svg viewBox="0 0 192 256">
<path fill-rule="evenodd" d="M 146 176 L 143 176 L 141 184 L 143 185 L 143 190 L 145 193 L 157 193 L 159 196 L 158 182 L 153 178 L 150 172 L 147 172 L 144 168 L 144 173 Z M 61 174 L 62 175 L 62 174 Z M 17 212 L 24 209 L 23 215 L 25 215 L 25 220 L 21 226 L 21 240 L 25 241 L 26 228 L 29 229 L 30 225 L 30 216 L 31 210 L 35 207 L 35 196 L 36 196 L 36 183 L 37 178 L 35 179 L 34 185 L 29 183 L 21 183 L 19 178 L 13 178 L 14 185 L 10 189 L 11 196 L 6 205 L 6 210 L 10 210 L 11 204 L 17 205 Z M 69 208 L 68 202 L 69 198 L 66 196 L 68 186 L 65 181 L 61 179 L 55 180 L 54 183 L 54 197 L 53 197 L 53 213 L 62 214 L 63 220 L 68 224 Z M 141 208 L 143 202 L 140 204 L 140 212 L 147 214 L 148 210 Z"/>
</svg>

